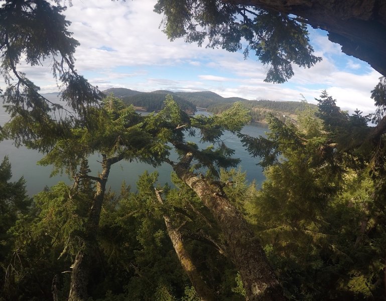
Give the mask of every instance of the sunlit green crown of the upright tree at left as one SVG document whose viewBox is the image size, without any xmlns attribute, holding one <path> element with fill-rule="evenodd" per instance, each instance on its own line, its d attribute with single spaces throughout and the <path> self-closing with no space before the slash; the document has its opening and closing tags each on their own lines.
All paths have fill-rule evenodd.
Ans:
<svg viewBox="0 0 386 301">
<path fill-rule="evenodd" d="M 65 171 L 75 177 L 81 163 L 95 153 L 154 166 L 169 154 L 164 140 L 154 139 L 157 129 L 151 128 L 148 118 L 113 96 L 102 101 L 102 108 L 89 110 L 88 122 L 91 127 L 74 126 L 67 136 L 56 139 L 55 147 L 39 164 L 52 164 L 53 174 Z"/>
</svg>

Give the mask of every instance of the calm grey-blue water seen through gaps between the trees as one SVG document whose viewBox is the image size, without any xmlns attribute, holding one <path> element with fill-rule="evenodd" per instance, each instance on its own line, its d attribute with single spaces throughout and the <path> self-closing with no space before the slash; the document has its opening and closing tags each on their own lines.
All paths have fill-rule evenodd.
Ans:
<svg viewBox="0 0 386 301">
<path fill-rule="evenodd" d="M 206 112 L 198 112 L 198 114 Z M 0 106 L 0 125 L 7 122 L 9 119 L 4 108 Z M 267 128 L 254 125 L 246 125 L 242 132 L 251 136 L 264 135 Z M 187 140 L 198 142 L 195 137 L 188 137 Z M 228 147 L 235 150 L 234 157 L 241 159 L 240 168 L 242 171 L 246 171 L 247 180 L 255 180 L 256 184 L 260 184 L 264 181 L 265 177 L 262 173 L 262 169 L 256 166 L 259 162 L 258 158 L 251 158 L 249 154 L 244 150 L 240 140 L 237 136 L 231 133 L 226 133 L 223 136 L 224 142 Z M 9 160 L 12 164 L 12 180 L 16 181 L 20 177 L 24 177 L 26 180 L 27 191 L 29 195 L 39 193 L 44 189 L 45 186 L 53 186 L 59 181 L 65 181 L 70 184 L 71 180 L 64 174 L 62 176 L 50 177 L 52 167 L 51 166 L 39 166 L 37 162 L 43 158 L 43 155 L 36 152 L 35 150 L 28 149 L 24 146 L 17 148 L 13 141 L 5 140 L 0 142 L 0 160 L 3 160 L 4 156 L 8 155 Z M 173 158 L 174 156 L 174 158 Z M 172 160 L 177 159 L 175 154 L 172 154 Z M 89 158 L 89 166 L 94 176 L 97 176 L 98 171 L 101 170 L 100 164 L 97 161 L 101 161 L 100 155 L 93 155 Z M 136 187 L 138 176 L 144 173 L 146 170 L 153 172 L 155 170 L 160 174 L 159 183 L 161 185 L 165 183 L 171 183 L 170 174 L 172 168 L 168 164 L 163 164 L 157 168 L 150 165 L 138 163 L 138 162 L 119 162 L 111 167 L 110 175 L 107 182 L 107 188 L 111 188 L 114 192 L 119 192 L 122 181 L 125 181 L 126 185 Z"/>
</svg>

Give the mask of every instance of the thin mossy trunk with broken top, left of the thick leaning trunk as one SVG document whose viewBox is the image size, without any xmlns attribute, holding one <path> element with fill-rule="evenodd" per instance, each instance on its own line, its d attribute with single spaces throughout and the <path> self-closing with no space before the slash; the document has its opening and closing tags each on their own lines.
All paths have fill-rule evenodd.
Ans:
<svg viewBox="0 0 386 301">
<path fill-rule="evenodd" d="M 158 201 L 163 204 L 162 198 L 160 196 L 160 193 L 157 189 L 156 196 Z M 197 294 L 199 295 L 201 300 L 205 301 L 214 301 L 215 295 L 212 289 L 209 288 L 209 286 L 205 283 L 205 281 L 202 279 L 196 265 L 194 264 L 192 258 L 190 257 L 188 251 L 184 247 L 184 243 L 182 240 L 182 235 L 180 231 L 175 229 L 170 221 L 170 217 L 167 214 L 164 214 L 164 220 L 166 225 L 166 230 L 168 232 L 168 235 L 173 243 L 173 247 L 176 251 L 177 257 L 181 262 L 181 265 L 188 275 L 190 282 L 192 283 L 193 287 L 195 288 Z"/>
</svg>

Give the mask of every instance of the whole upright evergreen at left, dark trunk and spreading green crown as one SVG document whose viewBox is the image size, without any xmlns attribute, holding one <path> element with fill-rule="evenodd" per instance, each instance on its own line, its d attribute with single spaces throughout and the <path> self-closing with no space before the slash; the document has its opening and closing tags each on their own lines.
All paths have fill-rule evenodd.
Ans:
<svg viewBox="0 0 386 301">
<path fill-rule="evenodd" d="M 109 96 L 103 100 L 101 108 L 88 109 L 87 127 L 76 123 L 68 128 L 65 136 L 55 138 L 54 145 L 40 161 L 43 165 L 52 164 L 54 174 L 65 171 L 74 179 L 74 185 L 68 191 L 70 199 L 83 198 L 83 217 L 86 219 L 84 229 L 76 237 L 71 236 L 71 239 L 79 240 L 80 243 L 75 253 L 74 249 L 69 252 L 74 256 L 71 300 L 87 296 L 88 277 L 98 253 L 96 235 L 111 165 L 121 160 L 140 160 L 157 166 L 169 154 L 166 140 L 156 138 L 159 130 L 146 120 L 132 106 L 126 106 L 121 100 Z M 30 129 L 35 131 L 44 127 L 44 124 L 38 122 L 31 125 Z M 4 126 L 4 131 L 11 136 L 17 136 L 20 130 L 20 123 L 16 119 Z M 41 139 L 29 140 L 28 145 L 38 149 L 48 147 L 42 143 Z M 101 172 L 92 176 L 87 160 L 95 153 L 102 157 Z"/>
</svg>

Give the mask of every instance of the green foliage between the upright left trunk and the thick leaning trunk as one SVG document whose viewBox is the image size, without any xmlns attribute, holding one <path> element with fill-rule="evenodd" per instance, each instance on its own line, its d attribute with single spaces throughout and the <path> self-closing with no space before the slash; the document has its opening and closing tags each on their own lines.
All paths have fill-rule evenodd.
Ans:
<svg viewBox="0 0 386 301">
<path fill-rule="evenodd" d="M 239 300 L 236 271 L 218 253 L 222 241 L 207 209 L 186 184 L 176 180 L 178 189 L 163 188 L 161 205 L 154 192 L 157 173 L 145 172 L 137 192 L 122 191 L 117 206 L 104 207 L 99 242 L 107 276 L 99 287 L 112 296 L 133 300 L 197 300 L 197 294 L 177 259 L 163 219 L 167 213 L 184 237 L 184 247 L 193 257 L 205 281 L 223 300 Z M 117 281 L 119 279 L 119 281 Z M 119 283 L 125 283 L 123 289 Z"/>
</svg>

